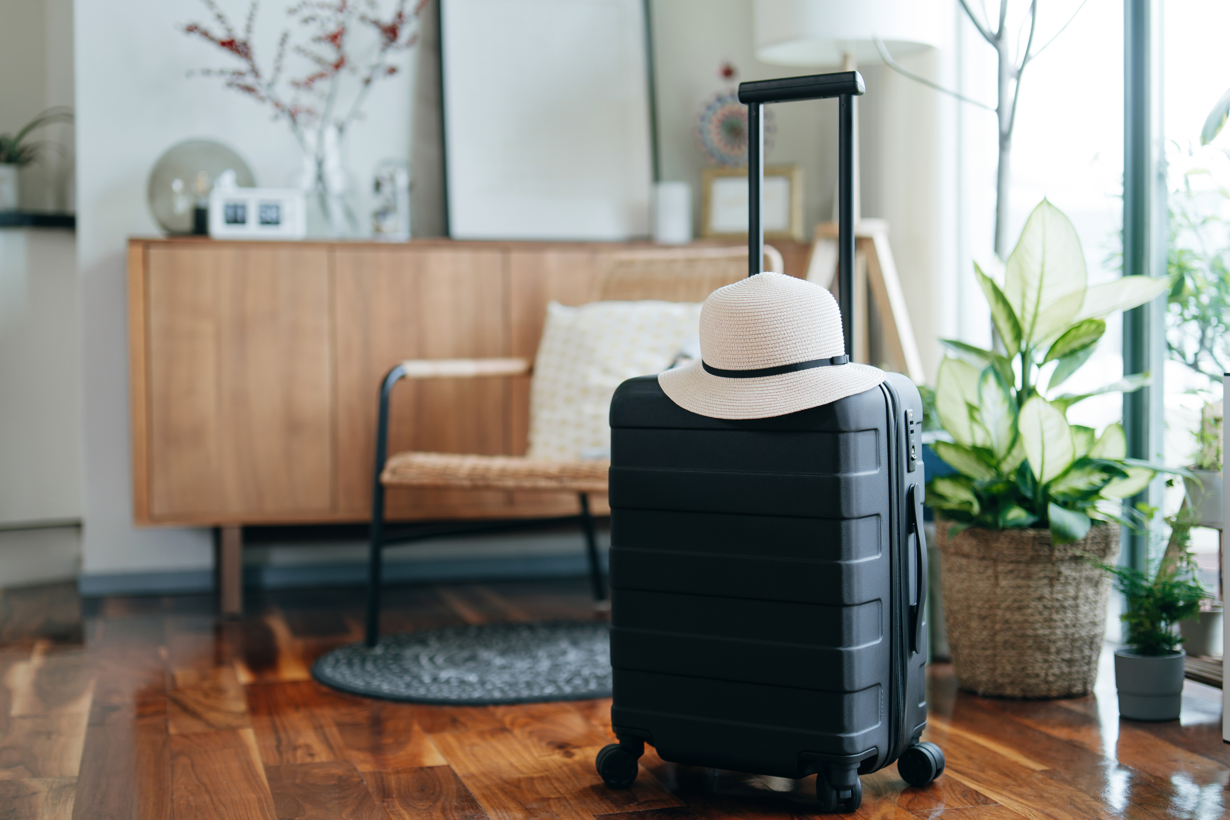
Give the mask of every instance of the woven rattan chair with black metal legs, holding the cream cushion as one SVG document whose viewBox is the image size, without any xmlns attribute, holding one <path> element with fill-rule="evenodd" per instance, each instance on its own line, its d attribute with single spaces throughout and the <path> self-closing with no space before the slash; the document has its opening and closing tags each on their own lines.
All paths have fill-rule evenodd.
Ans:
<svg viewBox="0 0 1230 820">
<path fill-rule="evenodd" d="M 717 288 L 747 275 L 747 248 L 647 250 L 610 258 L 599 279 L 597 300 L 704 301 Z M 769 270 L 782 270 L 781 254 L 765 248 Z M 538 527 L 546 522 L 579 524 L 585 536 L 594 601 L 606 600 L 606 580 L 598 554 L 598 537 L 589 514 L 589 495 L 606 493 L 610 461 L 542 461 L 524 456 L 483 456 L 453 452 L 389 455 L 389 398 L 402 379 L 508 377 L 530 373 L 525 359 L 411 359 L 385 376 L 380 388 L 376 452 L 371 494 L 371 536 L 368 568 L 368 609 L 364 639 L 374 647 L 380 636 L 381 556 L 386 546 L 423 538 Z M 577 495 L 578 514 L 517 521 L 443 522 L 392 531 L 385 521 L 385 491 L 416 489 L 541 491 Z"/>
</svg>

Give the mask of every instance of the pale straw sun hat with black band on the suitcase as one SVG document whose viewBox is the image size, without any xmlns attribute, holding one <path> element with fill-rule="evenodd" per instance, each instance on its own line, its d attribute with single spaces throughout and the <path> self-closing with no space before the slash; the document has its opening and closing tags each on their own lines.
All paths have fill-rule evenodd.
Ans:
<svg viewBox="0 0 1230 820">
<path fill-rule="evenodd" d="M 884 371 L 849 361 L 836 300 L 760 273 L 718 288 L 700 313 L 701 358 L 658 375 L 673 402 L 710 418 L 768 418 L 871 390 Z"/>
</svg>

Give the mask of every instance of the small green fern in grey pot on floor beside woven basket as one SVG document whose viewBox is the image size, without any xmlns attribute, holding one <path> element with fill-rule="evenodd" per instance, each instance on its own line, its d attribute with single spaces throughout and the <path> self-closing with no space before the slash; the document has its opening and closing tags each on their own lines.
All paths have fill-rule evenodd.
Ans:
<svg viewBox="0 0 1230 820">
<path fill-rule="evenodd" d="M 1175 627 L 1194 618 L 1208 596 L 1196 578 L 1196 566 L 1186 551 L 1164 558 L 1153 578 L 1132 567 L 1098 563 L 1114 578 L 1127 604 L 1119 618 L 1127 625 L 1128 645 L 1114 652 L 1119 717 L 1177 720 L 1186 653 Z"/>
</svg>

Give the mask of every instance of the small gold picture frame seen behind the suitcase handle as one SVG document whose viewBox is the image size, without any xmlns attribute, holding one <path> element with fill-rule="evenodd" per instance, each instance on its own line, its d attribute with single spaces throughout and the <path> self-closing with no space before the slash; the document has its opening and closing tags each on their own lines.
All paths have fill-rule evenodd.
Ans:
<svg viewBox="0 0 1230 820">
<path fill-rule="evenodd" d="M 701 236 L 748 237 L 748 189 L 738 179 L 747 168 L 705 168 L 701 175 Z M 760 219 L 766 240 L 803 241 L 803 168 L 798 165 L 765 167 Z"/>
</svg>

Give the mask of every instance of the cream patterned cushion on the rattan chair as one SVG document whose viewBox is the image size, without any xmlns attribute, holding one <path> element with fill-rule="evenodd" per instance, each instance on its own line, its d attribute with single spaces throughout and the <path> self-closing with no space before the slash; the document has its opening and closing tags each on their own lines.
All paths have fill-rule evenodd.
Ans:
<svg viewBox="0 0 1230 820">
<path fill-rule="evenodd" d="M 551 302 L 530 382 L 530 459 L 610 457 L 620 382 L 662 373 L 700 327 L 700 304 Z"/>
</svg>

